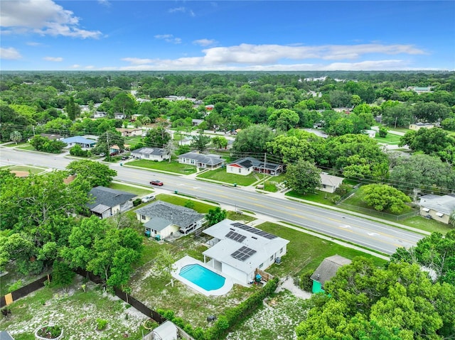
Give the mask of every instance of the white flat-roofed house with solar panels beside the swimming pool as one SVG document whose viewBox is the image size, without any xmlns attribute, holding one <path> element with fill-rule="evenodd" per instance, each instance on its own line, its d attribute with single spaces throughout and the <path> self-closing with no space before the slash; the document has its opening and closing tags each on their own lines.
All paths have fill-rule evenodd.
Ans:
<svg viewBox="0 0 455 340">
<path fill-rule="evenodd" d="M 213 236 L 203 252 L 204 263 L 241 283 L 255 280 L 255 270 L 280 263 L 288 240 L 230 219 L 205 229 Z"/>
</svg>

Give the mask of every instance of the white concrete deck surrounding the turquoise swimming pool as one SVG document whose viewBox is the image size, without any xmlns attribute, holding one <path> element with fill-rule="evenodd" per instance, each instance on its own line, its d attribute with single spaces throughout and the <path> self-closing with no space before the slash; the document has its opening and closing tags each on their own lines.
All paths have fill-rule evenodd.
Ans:
<svg viewBox="0 0 455 340">
<path fill-rule="evenodd" d="M 182 278 L 179 275 L 181 268 L 185 267 L 186 265 L 201 265 L 205 269 L 208 269 L 210 271 L 213 271 L 213 273 L 217 273 L 218 275 L 223 276 L 223 278 L 225 278 L 225 284 L 223 285 L 223 287 L 220 287 L 217 290 L 205 290 L 205 289 L 203 289 L 203 287 L 199 287 L 195 283 L 192 283 L 190 280 L 187 280 L 186 278 Z M 198 260 L 196 260 L 196 258 L 192 258 L 191 256 L 185 256 L 185 257 L 181 258 L 180 260 L 176 261 L 176 263 L 174 263 L 174 270 L 172 270 L 171 275 L 176 280 L 179 280 L 181 283 L 184 283 L 188 287 L 193 288 L 193 290 L 196 290 L 196 292 L 200 292 L 201 294 L 203 294 L 205 296 L 210 296 L 210 295 L 220 296 L 220 295 L 228 294 L 228 292 L 230 292 L 230 290 L 234 286 L 234 282 L 232 281 L 231 278 L 228 278 L 226 275 L 224 275 L 220 271 L 215 270 L 214 268 L 210 268 L 205 263 L 198 261 Z"/>
</svg>

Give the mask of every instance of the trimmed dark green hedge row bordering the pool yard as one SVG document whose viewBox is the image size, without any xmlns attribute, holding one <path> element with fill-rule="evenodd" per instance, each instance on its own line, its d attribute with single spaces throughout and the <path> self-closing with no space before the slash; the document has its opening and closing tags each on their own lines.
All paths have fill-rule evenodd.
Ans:
<svg viewBox="0 0 455 340">
<path fill-rule="evenodd" d="M 212 327 L 205 330 L 201 327 L 193 328 L 191 324 L 187 324 L 181 317 L 176 317 L 171 310 L 158 309 L 157 312 L 183 329 L 183 331 L 186 331 L 186 333 L 193 336 L 196 340 L 223 339 L 239 322 L 255 312 L 256 309 L 262 305 L 264 299 L 269 297 L 269 295 L 277 289 L 277 285 L 277 278 L 269 280 L 269 282 L 262 287 L 262 290 L 257 290 L 257 292 L 254 292 L 247 300 L 240 303 L 240 305 L 228 309 L 228 311 L 225 312 L 225 315 L 220 315 L 220 317 L 218 317 Z"/>
</svg>

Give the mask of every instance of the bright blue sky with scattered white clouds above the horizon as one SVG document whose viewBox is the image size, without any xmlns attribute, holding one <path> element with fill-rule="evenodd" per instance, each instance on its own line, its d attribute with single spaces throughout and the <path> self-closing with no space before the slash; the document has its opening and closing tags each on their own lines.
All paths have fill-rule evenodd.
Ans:
<svg viewBox="0 0 455 340">
<path fill-rule="evenodd" d="M 455 1 L 1 0 L 0 70 L 455 70 Z"/>
</svg>

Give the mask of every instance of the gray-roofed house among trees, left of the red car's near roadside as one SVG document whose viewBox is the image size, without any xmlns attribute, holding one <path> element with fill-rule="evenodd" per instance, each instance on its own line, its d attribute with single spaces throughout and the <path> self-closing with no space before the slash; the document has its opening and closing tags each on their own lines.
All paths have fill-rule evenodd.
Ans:
<svg viewBox="0 0 455 340">
<path fill-rule="evenodd" d="M 94 201 L 87 204 L 87 207 L 92 214 L 100 216 L 101 219 L 131 209 L 133 207 L 132 199 L 136 197 L 135 194 L 129 192 L 102 186 L 94 187 L 89 194 Z"/>
</svg>

